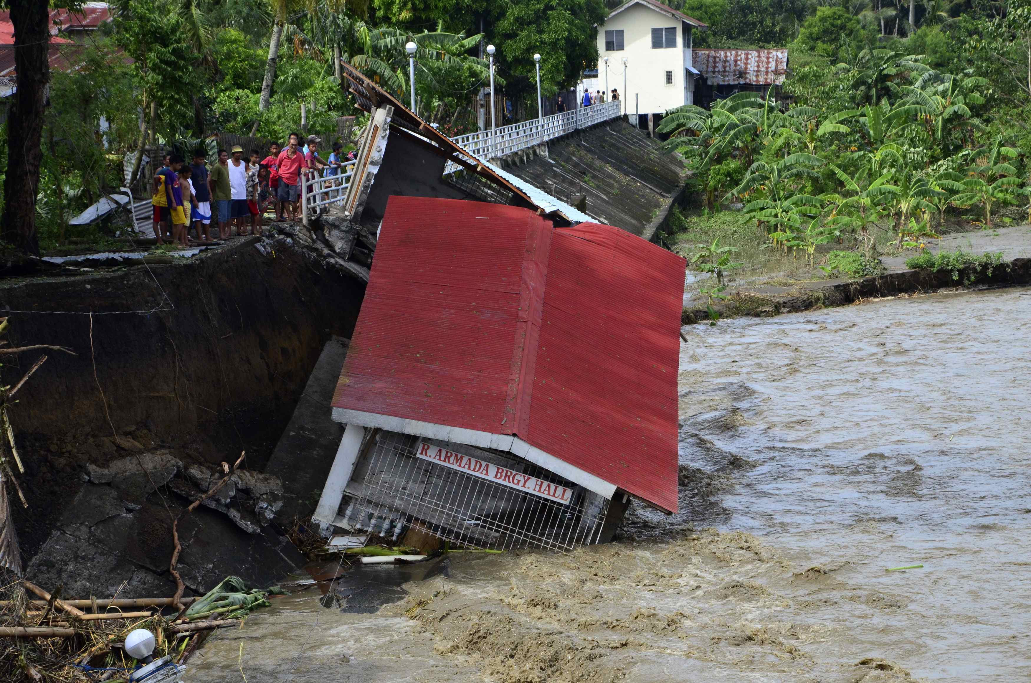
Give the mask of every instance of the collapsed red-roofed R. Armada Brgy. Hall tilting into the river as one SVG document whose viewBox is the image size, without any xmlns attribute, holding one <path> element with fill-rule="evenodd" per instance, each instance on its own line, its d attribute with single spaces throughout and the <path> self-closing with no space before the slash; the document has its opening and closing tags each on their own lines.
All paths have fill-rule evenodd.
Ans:
<svg viewBox="0 0 1031 683">
<path fill-rule="evenodd" d="M 567 550 L 610 540 L 630 496 L 675 512 L 684 267 L 611 226 L 390 197 L 315 520 Z"/>
</svg>

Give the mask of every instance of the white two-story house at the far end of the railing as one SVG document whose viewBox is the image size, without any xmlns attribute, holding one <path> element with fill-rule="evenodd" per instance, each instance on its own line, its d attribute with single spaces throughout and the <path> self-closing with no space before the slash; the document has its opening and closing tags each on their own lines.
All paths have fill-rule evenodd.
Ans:
<svg viewBox="0 0 1031 683">
<path fill-rule="evenodd" d="M 607 74 L 605 100 L 613 88 L 619 90 L 631 123 L 640 127 L 650 127 L 657 119 L 648 115 L 693 104 L 698 75 L 691 58 L 694 29 L 708 27 L 655 0 L 623 3 L 598 27 L 597 90 L 606 88 Z"/>
</svg>

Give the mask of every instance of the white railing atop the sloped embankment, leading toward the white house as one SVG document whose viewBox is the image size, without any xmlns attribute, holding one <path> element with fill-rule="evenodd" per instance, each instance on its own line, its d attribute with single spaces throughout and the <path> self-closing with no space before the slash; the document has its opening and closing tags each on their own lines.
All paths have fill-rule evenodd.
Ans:
<svg viewBox="0 0 1031 683">
<path fill-rule="evenodd" d="M 603 121 L 616 119 L 623 113 L 622 107 L 622 101 L 612 100 L 576 108 L 572 111 L 553 113 L 543 119 L 533 119 L 510 126 L 502 126 L 493 131 L 481 130 L 476 133 L 459 135 L 452 139 L 474 157 L 495 159 L 567 135 L 574 130 L 589 128 Z M 444 168 L 444 173 L 454 172 L 457 168 L 457 165 L 448 163 Z"/>
</svg>

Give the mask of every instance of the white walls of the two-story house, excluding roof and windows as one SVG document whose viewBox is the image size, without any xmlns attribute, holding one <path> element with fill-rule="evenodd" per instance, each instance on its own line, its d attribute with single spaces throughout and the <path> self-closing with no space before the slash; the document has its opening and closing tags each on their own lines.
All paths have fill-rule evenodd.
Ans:
<svg viewBox="0 0 1031 683">
<path fill-rule="evenodd" d="M 605 83 L 605 63 L 608 57 L 608 90 L 620 91 L 620 96 L 626 100 L 627 112 L 634 112 L 634 95 L 639 96 L 640 113 L 665 113 L 683 104 L 685 101 L 685 54 L 683 22 L 672 19 L 662 12 L 637 4 L 624 9 L 616 17 L 608 19 L 598 27 L 598 76 Z M 676 46 L 652 48 L 652 29 L 675 28 Z M 605 51 L 605 31 L 623 30 L 624 50 Z M 623 58 L 626 57 L 627 92 L 623 92 Z M 666 71 L 673 72 L 673 83 L 666 85 Z"/>
</svg>

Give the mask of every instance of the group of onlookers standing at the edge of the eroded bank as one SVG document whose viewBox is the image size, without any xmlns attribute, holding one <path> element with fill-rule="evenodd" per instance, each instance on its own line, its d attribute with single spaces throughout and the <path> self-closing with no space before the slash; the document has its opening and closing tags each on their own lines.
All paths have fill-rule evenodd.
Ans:
<svg viewBox="0 0 1031 683">
<path fill-rule="evenodd" d="M 191 165 L 179 155 L 166 155 L 154 175 L 152 203 L 158 243 L 189 245 L 191 225 L 196 241 L 214 241 L 212 219 L 218 222 L 219 239 L 228 239 L 234 224 L 237 236 L 260 235 L 262 217 L 270 207 L 276 221 L 296 221 L 303 174 L 339 175 L 345 160 L 340 143 L 333 145 L 328 159 L 320 157 L 322 139 L 317 135 L 308 135 L 303 149 L 298 148 L 297 133 L 291 133 L 287 140 L 281 151 L 277 142 L 271 143 L 264 159 L 258 150 L 252 150 L 245 159 L 239 145 L 230 152 L 219 150 L 219 161 L 210 170 L 204 150 L 194 152 Z"/>
</svg>

